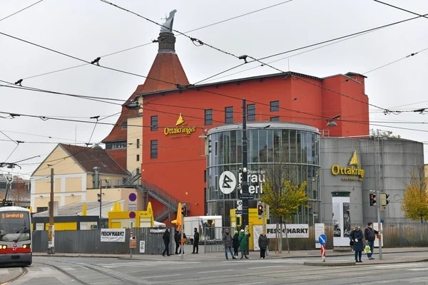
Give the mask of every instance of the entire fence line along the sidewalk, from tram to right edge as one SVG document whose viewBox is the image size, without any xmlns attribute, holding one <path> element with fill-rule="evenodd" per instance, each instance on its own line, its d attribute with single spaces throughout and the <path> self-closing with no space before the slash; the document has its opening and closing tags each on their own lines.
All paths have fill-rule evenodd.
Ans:
<svg viewBox="0 0 428 285">
<path fill-rule="evenodd" d="M 360 225 L 363 231 L 365 226 Z M 154 230 L 157 229 L 157 230 Z M 161 230 L 159 230 L 161 229 Z M 137 239 L 137 248 L 133 254 L 140 254 L 140 242 L 144 242 L 144 254 L 162 254 L 164 228 L 136 228 L 134 236 Z M 202 252 L 224 252 L 223 233 L 225 229 L 232 234 L 234 227 L 205 228 L 206 239 L 200 240 L 200 253 Z M 325 235 L 327 236 L 327 249 L 333 249 L 332 224 L 325 224 Z M 315 249 L 315 228 L 309 227 L 309 238 L 288 239 L 291 250 Z M 250 234 L 253 234 L 252 227 Z M 79 231 L 56 231 L 55 252 L 58 253 L 86 253 L 86 254 L 128 254 L 131 229 L 126 229 L 125 242 L 101 242 L 101 229 L 79 230 Z M 428 224 L 427 223 L 394 223 L 383 224 L 383 247 L 428 247 Z M 275 250 L 276 239 L 269 239 L 270 250 Z M 250 248 L 253 248 L 253 238 L 250 238 Z M 48 246 L 48 232 L 33 232 L 33 251 L 46 252 Z M 189 247 L 189 246 L 186 246 Z M 170 254 L 174 253 L 174 228 L 170 228 Z M 287 249 L 285 237 L 282 239 L 282 250 Z M 188 249 L 187 249 L 188 250 Z"/>
</svg>

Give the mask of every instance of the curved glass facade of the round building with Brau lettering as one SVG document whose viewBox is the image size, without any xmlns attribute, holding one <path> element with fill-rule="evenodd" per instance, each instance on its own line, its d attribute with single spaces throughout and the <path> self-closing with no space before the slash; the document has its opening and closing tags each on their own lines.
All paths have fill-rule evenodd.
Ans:
<svg viewBox="0 0 428 285">
<path fill-rule="evenodd" d="M 222 215 L 226 226 L 230 225 L 230 209 L 236 207 L 236 200 L 240 197 L 242 133 L 241 125 L 221 125 L 208 132 L 211 145 L 207 160 L 208 214 Z M 249 190 L 254 196 L 249 207 L 257 207 L 266 170 L 280 162 L 280 167 L 293 182 L 307 182 L 310 209 L 302 207 L 295 216 L 295 222 L 317 222 L 320 197 L 320 135 L 317 128 L 298 123 L 256 122 L 248 124 L 247 138 Z M 225 171 L 235 175 L 236 185 L 233 181 L 219 182 Z"/>
</svg>

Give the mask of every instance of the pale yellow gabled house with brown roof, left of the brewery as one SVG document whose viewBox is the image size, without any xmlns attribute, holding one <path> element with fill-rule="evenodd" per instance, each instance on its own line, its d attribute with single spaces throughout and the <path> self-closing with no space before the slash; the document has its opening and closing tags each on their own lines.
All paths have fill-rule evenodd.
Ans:
<svg viewBox="0 0 428 285">
<path fill-rule="evenodd" d="M 99 167 L 98 182 L 94 167 Z M 100 188 L 103 201 L 118 201 L 128 210 L 128 197 L 137 195 L 137 209 L 143 209 L 143 193 L 133 187 L 122 187 L 129 178 L 106 150 L 58 144 L 31 175 L 31 207 L 35 212 L 48 209 L 51 192 L 51 168 L 54 169 L 54 200 L 58 207 L 76 202 L 97 201 Z"/>
</svg>

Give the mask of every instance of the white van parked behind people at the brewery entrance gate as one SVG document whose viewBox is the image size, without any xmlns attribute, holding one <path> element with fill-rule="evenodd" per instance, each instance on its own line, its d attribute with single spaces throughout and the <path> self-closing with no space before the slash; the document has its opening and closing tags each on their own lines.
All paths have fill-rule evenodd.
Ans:
<svg viewBox="0 0 428 285">
<path fill-rule="evenodd" d="M 222 239 L 223 233 L 220 229 L 213 227 L 223 227 L 221 216 L 195 216 L 184 217 L 184 233 L 193 244 L 194 229 L 198 229 L 199 241 Z"/>
</svg>

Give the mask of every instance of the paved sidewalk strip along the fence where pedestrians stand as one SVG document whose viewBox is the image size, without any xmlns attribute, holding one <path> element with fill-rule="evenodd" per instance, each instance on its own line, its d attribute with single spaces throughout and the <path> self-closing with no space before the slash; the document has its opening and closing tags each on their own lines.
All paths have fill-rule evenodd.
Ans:
<svg viewBox="0 0 428 285">
<path fill-rule="evenodd" d="M 427 252 L 427 259 L 428 259 L 428 247 L 405 247 L 405 248 L 383 248 L 382 254 L 385 256 L 383 257 L 384 260 L 379 261 L 379 254 L 378 249 L 374 249 L 374 257 L 376 259 L 371 260 L 370 264 L 375 264 L 375 262 L 381 262 L 382 264 L 386 263 L 387 261 L 392 261 L 391 258 L 387 258 L 388 254 L 397 254 L 397 253 L 411 253 L 411 252 Z M 34 252 L 34 257 L 51 257 L 50 255 L 46 254 L 45 252 Z M 354 252 L 333 252 L 332 249 L 328 249 L 326 251 L 326 260 L 328 260 L 329 257 L 353 257 Z M 56 253 L 54 254 L 54 257 L 96 257 L 96 258 L 116 258 L 116 259 L 131 259 L 130 254 L 78 254 L 78 253 Z M 251 258 L 259 257 L 259 252 L 250 252 L 250 255 L 248 256 Z M 311 257 L 320 257 L 320 250 L 298 250 L 298 251 L 292 251 L 290 254 L 287 253 L 287 251 L 283 251 L 281 254 L 275 254 L 275 252 L 270 251 L 268 259 L 289 259 L 289 258 L 311 258 Z M 153 261 L 165 261 L 165 260 L 171 260 L 171 261 L 180 261 L 180 255 L 171 255 L 170 257 L 162 257 L 161 254 L 133 254 L 132 259 L 136 260 L 153 260 Z M 225 259 L 224 252 L 209 252 L 204 254 L 203 252 L 199 254 L 185 254 L 184 260 L 185 261 L 213 261 L 213 260 L 223 260 Z M 353 258 L 350 258 L 350 261 L 352 261 Z M 397 257 L 394 258 L 398 259 Z M 399 259 L 403 259 L 401 262 L 406 262 L 404 259 L 409 260 L 407 262 L 422 262 L 424 261 L 424 258 L 412 258 L 412 257 L 400 257 Z M 412 261 L 410 261 L 412 260 Z M 416 261 L 413 261 L 416 260 Z M 368 260 L 367 260 L 368 261 Z M 376 263 L 377 264 L 377 263 Z M 358 264 L 360 265 L 360 264 Z M 364 265 L 364 263 L 363 263 Z"/>
</svg>

